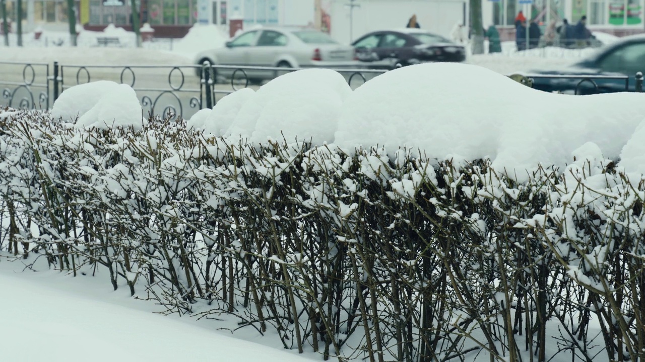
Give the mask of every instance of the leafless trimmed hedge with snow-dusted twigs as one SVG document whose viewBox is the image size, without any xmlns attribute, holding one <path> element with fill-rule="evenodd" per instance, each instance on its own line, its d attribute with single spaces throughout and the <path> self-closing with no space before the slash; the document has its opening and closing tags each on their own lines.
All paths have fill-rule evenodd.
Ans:
<svg viewBox="0 0 645 362">
<path fill-rule="evenodd" d="M 644 358 L 645 186 L 620 164 L 518 183 L 486 159 L 233 139 L 5 112 L 0 251 L 339 360 Z"/>
</svg>

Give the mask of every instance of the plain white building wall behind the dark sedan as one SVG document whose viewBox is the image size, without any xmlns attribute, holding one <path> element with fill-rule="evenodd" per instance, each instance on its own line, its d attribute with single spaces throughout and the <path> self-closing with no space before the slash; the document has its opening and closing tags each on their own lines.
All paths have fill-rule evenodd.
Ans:
<svg viewBox="0 0 645 362">
<path fill-rule="evenodd" d="M 332 0 L 331 35 L 337 41 L 349 44 L 375 30 L 404 28 L 412 14 L 422 29 L 450 37 L 453 26 L 468 23 L 468 8 L 464 0 L 357 0 L 361 5 L 353 10 L 352 39 L 350 39 L 349 0 Z M 464 14 L 466 9 L 466 14 Z M 466 35 L 466 34 L 464 34 Z"/>
</svg>

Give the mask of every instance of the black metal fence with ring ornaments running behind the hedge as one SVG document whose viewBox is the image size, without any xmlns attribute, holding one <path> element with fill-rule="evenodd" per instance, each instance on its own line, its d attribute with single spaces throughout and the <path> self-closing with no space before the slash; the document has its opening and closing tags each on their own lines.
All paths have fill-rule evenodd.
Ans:
<svg viewBox="0 0 645 362">
<path fill-rule="evenodd" d="M 52 68 L 52 69 L 50 69 Z M 114 81 L 130 85 L 144 111 L 189 119 L 202 108 L 212 108 L 221 97 L 246 87 L 259 85 L 283 73 L 298 70 L 281 67 L 217 66 L 101 66 L 44 63 L 0 62 L 0 106 L 50 109 L 62 91 L 77 84 Z M 342 69 L 352 89 L 386 70 Z M 532 81 L 550 79 L 575 94 L 608 91 L 604 82 L 624 82 L 624 89 L 642 91 L 643 76 L 626 75 L 525 75 Z M 633 83 L 631 82 L 633 80 Z M 564 82 L 566 81 L 566 82 Z M 633 85 L 633 87 L 632 87 Z M 432 86 L 429 84 L 428 86 Z M 536 86 L 535 88 L 541 89 Z M 542 89 L 544 90 L 544 89 Z M 551 89 L 548 91 L 559 91 Z"/>
</svg>

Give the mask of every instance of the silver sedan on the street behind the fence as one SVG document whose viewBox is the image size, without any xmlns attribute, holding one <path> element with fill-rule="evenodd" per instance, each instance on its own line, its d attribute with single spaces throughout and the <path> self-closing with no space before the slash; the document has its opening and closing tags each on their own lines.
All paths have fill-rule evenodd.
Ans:
<svg viewBox="0 0 645 362">
<path fill-rule="evenodd" d="M 352 46 L 339 44 L 328 34 L 308 28 L 247 30 L 227 41 L 223 48 L 199 53 L 195 62 L 224 66 L 215 68 L 217 77 L 232 77 L 238 68 L 244 68 L 248 81 L 255 84 L 279 75 L 276 68 L 361 68 Z M 238 70 L 235 77 L 239 73 Z"/>
</svg>

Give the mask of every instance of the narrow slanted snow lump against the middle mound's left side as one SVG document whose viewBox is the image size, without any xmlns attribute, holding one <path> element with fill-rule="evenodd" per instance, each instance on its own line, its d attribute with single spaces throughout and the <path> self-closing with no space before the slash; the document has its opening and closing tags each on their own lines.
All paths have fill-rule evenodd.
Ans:
<svg viewBox="0 0 645 362">
<path fill-rule="evenodd" d="M 254 95 L 255 91 L 251 88 L 242 88 L 220 99 L 204 122 L 204 133 L 218 137 L 223 135 L 233 124 L 242 106 Z"/>
</svg>

